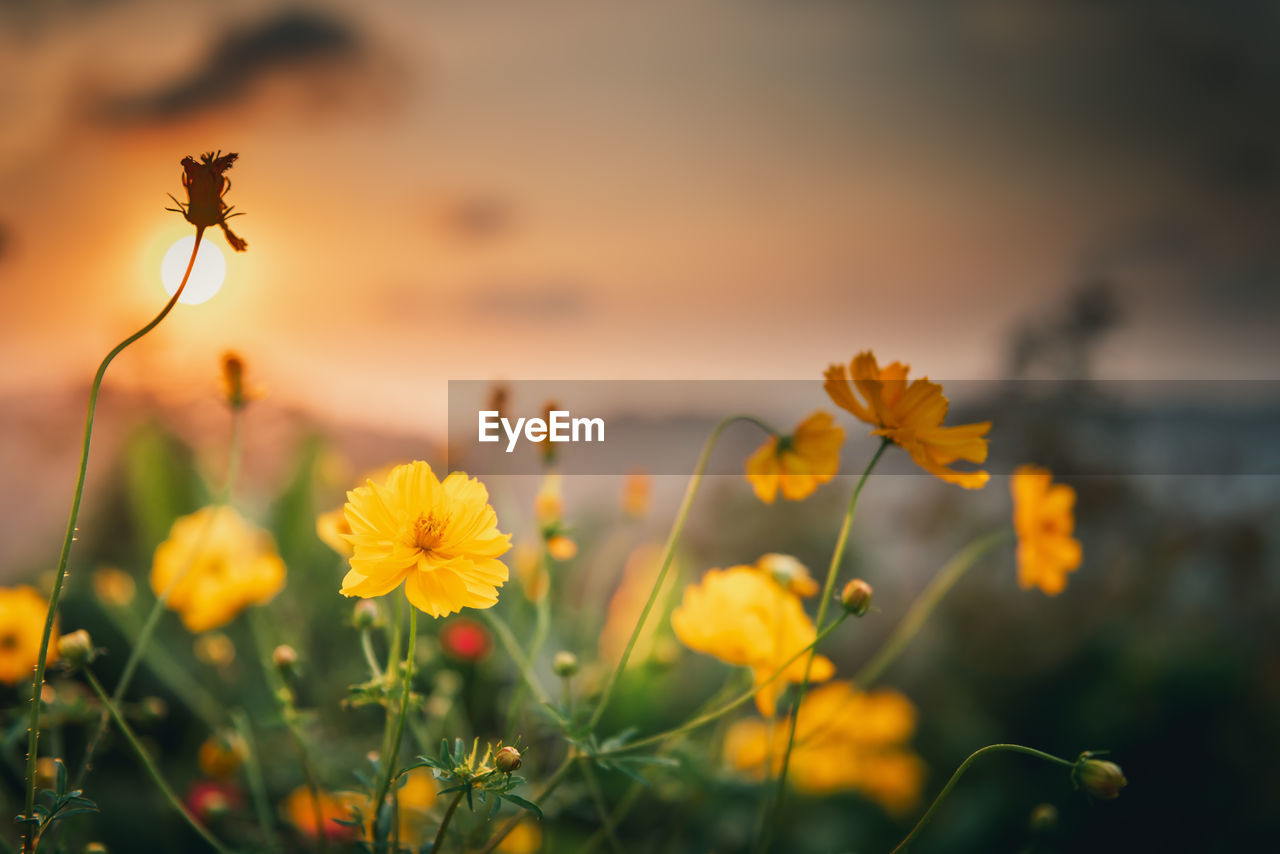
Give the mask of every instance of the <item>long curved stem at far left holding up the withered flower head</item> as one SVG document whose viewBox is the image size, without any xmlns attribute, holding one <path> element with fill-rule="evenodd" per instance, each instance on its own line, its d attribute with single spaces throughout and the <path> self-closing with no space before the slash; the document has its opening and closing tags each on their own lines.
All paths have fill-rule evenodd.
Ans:
<svg viewBox="0 0 1280 854">
<path fill-rule="evenodd" d="M 49 657 L 49 641 L 54 632 L 54 620 L 58 616 L 58 600 L 63 594 L 63 583 L 67 580 L 67 561 L 70 558 L 72 543 L 76 540 L 76 521 L 79 517 L 81 499 L 84 495 L 84 475 L 88 470 L 88 449 L 93 440 L 93 414 L 97 410 L 97 394 L 102 388 L 102 378 L 106 375 L 106 369 L 111 361 L 124 351 L 125 347 L 132 344 L 134 341 L 147 334 L 159 325 L 161 320 L 168 316 L 173 307 L 178 305 L 178 300 L 182 297 L 183 289 L 187 287 L 187 279 L 191 278 L 191 270 L 196 266 L 196 254 L 200 251 L 200 241 L 205 236 L 205 229 L 202 227 L 196 228 L 196 243 L 191 247 L 191 260 L 187 261 L 187 270 L 182 274 L 182 282 L 178 284 L 178 289 L 173 292 L 169 297 L 169 302 L 165 303 L 164 309 L 160 310 L 151 323 L 138 329 L 136 333 L 118 343 L 102 360 L 102 364 L 97 366 L 97 373 L 93 374 L 93 383 L 90 385 L 88 391 L 88 407 L 84 412 L 84 438 L 81 442 L 81 462 L 79 470 L 76 474 L 76 489 L 72 492 L 72 511 L 67 519 L 67 533 L 63 535 L 63 548 L 58 556 L 58 571 L 54 574 L 54 589 L 49 594 L 49 612 L 45 616 L 45 630 L 40 638 L 40 656 L 36 658 L 36 672 L 31 682 L 31 714 L 27 721 L 27 804 L 23 814 L 31 816 L 32 809 L 36 807 L 36 750 L 40 741 L 40 690 L 45 686 L 45 659 Z M 23 840 L 23 850 L 31 851 L 35 846 L 35 839 L 32 836 L 32 825 L 27 823 L 27 831 Z"/>
</svg>

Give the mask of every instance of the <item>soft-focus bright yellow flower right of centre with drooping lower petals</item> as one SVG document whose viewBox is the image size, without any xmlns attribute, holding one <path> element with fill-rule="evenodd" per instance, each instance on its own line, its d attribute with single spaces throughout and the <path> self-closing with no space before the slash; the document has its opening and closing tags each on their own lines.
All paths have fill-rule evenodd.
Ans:
<svg viewBox="0 0 1280 854">
<path fill-rule="evenodd" d="M 755 705 L 771 717 L 786 684 L 804 680 L 805 658 L 768 685 L 764 681 L 817 638 L 800 599 L 751 566 L 709 570 L 699 584 L 690 584 L 671 615 L 671 626 L 690 649 L 750 667 L 762 686 Z M 828 658 L 815 656 L 810 681 L 824 681 L 835 672 Z"/>
</svg>

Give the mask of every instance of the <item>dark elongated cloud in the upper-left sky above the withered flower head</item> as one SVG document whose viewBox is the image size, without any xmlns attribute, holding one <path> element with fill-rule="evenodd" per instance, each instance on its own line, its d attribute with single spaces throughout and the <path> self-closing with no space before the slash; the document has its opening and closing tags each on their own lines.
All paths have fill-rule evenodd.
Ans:
<svg viewBox="0 0 1280 854">
<path fill-rule="evenodd" d="M 123 122 L 175 119 L 243 97 L 268 74 L 338 65 L 362 52 L 360 35 L 347 22 L 319 12 L 283 12 L 228 32 L 183 78 L 113 99 L 105 113 Z"/>
</svg>

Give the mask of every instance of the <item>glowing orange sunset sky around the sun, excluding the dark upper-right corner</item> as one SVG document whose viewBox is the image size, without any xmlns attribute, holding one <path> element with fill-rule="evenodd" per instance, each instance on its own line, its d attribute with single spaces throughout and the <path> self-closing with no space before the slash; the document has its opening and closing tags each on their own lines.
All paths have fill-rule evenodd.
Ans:
<svg viewBox="0 0 1280 854">
<path fill-rule="evenodd" d="M 442 425 L 451 378 L 799 378 L 865 347 L 996 376 L 1016 323 L 1170 211 L 1197 274 L 1268 243 L 1105 115 L 984 88 L 1096 22 L 975 4 L 947 55 L 906 13 L 800 6 L 329 4 L 337 35 L 280 61 L 257 4 L 14 15 L 0 393 L 87 379 L 163 303 L 165 193 L 212 147 L 241 152 L 250 251 L 113 378 L 205 384 L 232 347 L 284 401 L 397 428 Z M 140 118 L 192 78 L 207 102 Z M 1119 255 L 1108 375 L 1274 375 L 1260 318 L 1204 323 L 1180 256 Z"/>
</svg>

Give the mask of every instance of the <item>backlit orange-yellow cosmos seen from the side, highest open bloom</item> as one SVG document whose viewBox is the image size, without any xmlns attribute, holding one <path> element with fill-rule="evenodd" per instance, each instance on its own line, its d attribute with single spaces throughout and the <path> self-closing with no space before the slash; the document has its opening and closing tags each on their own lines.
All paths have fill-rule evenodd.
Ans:
<svg viewBox="0 0 1280 854">
<path fill-rule="evenodd" d="M 942 387 L 928 378 L 908 384 L 908 370 L 901 362 L 881 367 L 867 351 L 854 356 L 847 369 L 828 367 L 823 388 L 836 406 L 874 426 L 872 435 L 901 447 L 931 475 L 965 489 L 980 489 L 991 478 L 986 471 L 956 471 L 948 466 L 957 460 L 986 462 L 991 421 L 942 426 L 950 406 Z"/>
</svg>

